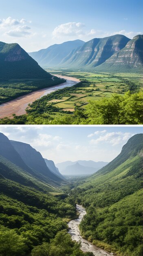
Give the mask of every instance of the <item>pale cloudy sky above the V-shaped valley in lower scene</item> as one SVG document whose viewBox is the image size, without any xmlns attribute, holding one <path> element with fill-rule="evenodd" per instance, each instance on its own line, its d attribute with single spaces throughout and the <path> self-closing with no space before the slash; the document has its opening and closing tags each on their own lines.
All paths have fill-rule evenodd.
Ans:
<svg viewBox="0 0 143 256">
<path fill-rule="evenodd" d="M 139 126 L 0 126 L 9 139 L 30 144 L 55 163 L 77 160 L 110 162 Z"/>
</svg>

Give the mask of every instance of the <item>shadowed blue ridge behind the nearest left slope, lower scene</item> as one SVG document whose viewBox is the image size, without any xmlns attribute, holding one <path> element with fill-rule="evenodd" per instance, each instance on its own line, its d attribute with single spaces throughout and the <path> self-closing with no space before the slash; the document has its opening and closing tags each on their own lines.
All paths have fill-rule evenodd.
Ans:
<svg viewBox="0 0 143 256">
<path fill-rule="evenodd" d="M 29 144 L 19 141 L 11 141 L 11 144 L 19 153 L 27 166 L 35 170 L 37 173 L 41 173 L 45 177 L 50 178 L 51 180 L 54 180 L 56 182 L 62 181 L 61 178 L 59 178 L 57 175 L 49 170 L 40 152 L 36 151 Z"/>
</svg>

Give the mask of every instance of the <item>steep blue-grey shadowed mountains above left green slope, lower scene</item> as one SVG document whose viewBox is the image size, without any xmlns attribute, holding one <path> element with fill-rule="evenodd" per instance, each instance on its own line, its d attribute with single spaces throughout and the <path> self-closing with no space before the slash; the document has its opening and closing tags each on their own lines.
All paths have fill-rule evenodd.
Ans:
<svg viewBox="0 0 143 256">
<path fill-rule="evenodd" d="M 36 183 L 40 184 L 40 187 L 43 184 L 43 186 L 48 186 L 49 190 L 57 191 L 57 187 L 67 183 L 62 175 L 59 177 L 48 168 L 40 152 L 37 152 L 29 144 L 10 141 L 2 133 L 0 133 L 0 156 L 3 161 L 7 159 L 12 166 L 15 165 L 17 170 L 22 170 L 22 172 L 18 171 L 19 175 L 26 173 L 26 177 L 29 179 L 32 176 Z M 4 175 L 2 170 L 0 173 Z M 13 180 L 15 180 L 14 173 Z"/>
</svg>

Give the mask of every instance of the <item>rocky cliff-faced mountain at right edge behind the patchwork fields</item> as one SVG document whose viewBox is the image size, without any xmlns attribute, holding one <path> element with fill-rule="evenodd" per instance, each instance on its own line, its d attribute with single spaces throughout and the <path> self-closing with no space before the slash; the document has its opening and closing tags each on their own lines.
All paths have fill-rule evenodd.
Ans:
<svg viewBox="0 0 143 256">
<path fill-rule="evenodd" d="M 123 49 L 113 54 L 95 70 L 141 72 L 143 70 L 143 35 L 134 36 Z"/>
</svg>

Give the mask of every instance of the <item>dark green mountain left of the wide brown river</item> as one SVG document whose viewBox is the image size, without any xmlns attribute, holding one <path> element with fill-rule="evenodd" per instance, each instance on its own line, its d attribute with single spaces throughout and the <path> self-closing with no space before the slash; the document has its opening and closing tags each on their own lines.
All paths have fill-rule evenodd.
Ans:
<svg viewBox="0 0 143 256">
<path fill-rule="evenodd" d="M 38 63 L 17 43 L 0 42 L 0 81 L 50 78 Z"/>
</svg>

